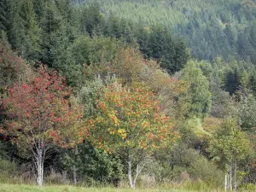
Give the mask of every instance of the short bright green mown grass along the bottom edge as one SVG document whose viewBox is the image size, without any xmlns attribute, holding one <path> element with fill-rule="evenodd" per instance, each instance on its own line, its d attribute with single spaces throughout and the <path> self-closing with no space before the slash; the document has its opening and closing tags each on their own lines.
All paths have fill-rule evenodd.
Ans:
<svg viewBox="0 0 256 192">
<path fill-rule="evenodd" d="M 80 188 L 71 185 L 52 185 L 39 188 L 35 185 L 0 183 L 0 192 L 193 192 L 181 189 L 119 189 L 119 188 Z M 194 191 L 195 192 L 195 191 Z"/>
</svg>

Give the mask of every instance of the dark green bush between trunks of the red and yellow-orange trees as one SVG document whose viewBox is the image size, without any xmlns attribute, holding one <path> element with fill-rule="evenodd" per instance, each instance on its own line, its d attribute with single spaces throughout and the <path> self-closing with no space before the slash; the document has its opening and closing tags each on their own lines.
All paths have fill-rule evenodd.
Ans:
<svg viewBox="0 0 256 192">
<path fill-rule="evenodd" d="M 76 167 L 80 181 L 92 178 L 102 183 L 117 184 L 123 176 L 120 160 L 103 150 L 93 148 L 88 141 L 73 150 L 67 150 L 62 162 L 70 175 L 73 175 L 73 166 Z"/>
</svg>

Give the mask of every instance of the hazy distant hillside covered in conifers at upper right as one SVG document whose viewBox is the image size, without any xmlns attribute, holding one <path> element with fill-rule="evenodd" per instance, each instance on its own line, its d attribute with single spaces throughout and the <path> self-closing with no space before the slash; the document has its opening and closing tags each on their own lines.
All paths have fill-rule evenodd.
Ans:
<svg viewBox="0 0 256 192">
<path fill-rule="evenodd" d="M 91 2 L 90 0 L 85 3 Z M 143 26 L 167 26 L 182 36 L 197 59 L 217 55 L 256 64 L 254 0 L 98 0 L 105 15 L 117 15 Z"/>
</svg>

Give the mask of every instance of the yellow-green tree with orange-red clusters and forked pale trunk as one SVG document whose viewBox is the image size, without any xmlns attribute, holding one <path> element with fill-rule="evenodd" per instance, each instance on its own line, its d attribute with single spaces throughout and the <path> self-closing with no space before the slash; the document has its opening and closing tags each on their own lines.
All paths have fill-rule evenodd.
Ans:
<svg viewBox="0 0 256 192">
<path fill-rule="evenodd" d="M 115 82 L 102 87 L 99 94 L 96 115 L 88 120 L 92 125 L 91 142 L 124 158 L 134 189 L 145 157 L 175 143 L 178 133 L 173 130 L 170 117 L 161 113 L 160 102 L 148 90 L 129 90 Z"/>
</svg>

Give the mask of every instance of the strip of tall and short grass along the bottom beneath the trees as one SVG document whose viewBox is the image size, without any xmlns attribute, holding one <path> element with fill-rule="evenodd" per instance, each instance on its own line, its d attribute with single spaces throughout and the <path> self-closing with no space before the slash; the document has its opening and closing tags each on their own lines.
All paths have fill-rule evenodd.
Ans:
<svg viewBox="0 0 256 192">
<path fill-rule="evenodd" d="M 202 164 L 201 164 L 202 165 Z M 196 169 L 197 170 L 197 169 Z M 201 176 L 207 177 L 202 174 Z M 182 179 L 181 181 L 173 182 L 165 181 L 160 185 L 154 181 L 153 177 L 143 175 L 138 183 L 137 189 L 129 189 L 125 180 L 121 180 L 119 188 L 113 188 L 109 183 L 99 183 L 93 179 L 86 181 L 80 180 L 77 186 L 72 185 L 72 181 L 67 177 L 67 174 L 51 171 L 44 177 L 44 187 L 39 188 L 36 185 L 35 176 L 32 172 L 20 172 L 15 163 L 8 160 L 0 160 L 0 192 L 31 192 L 31 191 L 47 191 L 47 192 L 222 192 L 222 188 L 215 189 L 216 183 L 205 183 L 201 179 L 191 180 Z M 223 187 L 223 186 L 221 186 Z M 255 185 L 247 184 L 240 191 L 255 191 Z"/>
</svg>

